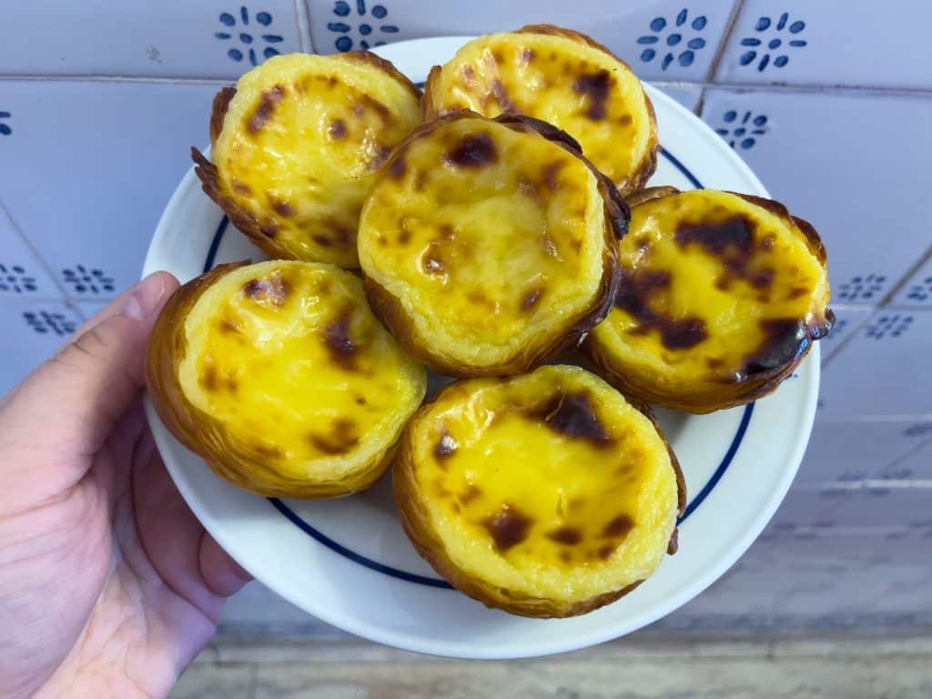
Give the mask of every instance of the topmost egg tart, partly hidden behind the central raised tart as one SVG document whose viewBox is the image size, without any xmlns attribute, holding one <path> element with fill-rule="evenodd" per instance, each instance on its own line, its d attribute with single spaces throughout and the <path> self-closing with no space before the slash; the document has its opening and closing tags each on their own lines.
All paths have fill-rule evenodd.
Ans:
<svg viewBox="0 0 932 699">
<path fill-rule="evenodd" d="M 637 75 L 585 34 L 552 24 L 464 44 L 432 69 L 423 107 L 428 119 L 471 109 L 550 122 L 623 194 L 645 185 L 657 166 L 657 123 Z"/>
</svg>

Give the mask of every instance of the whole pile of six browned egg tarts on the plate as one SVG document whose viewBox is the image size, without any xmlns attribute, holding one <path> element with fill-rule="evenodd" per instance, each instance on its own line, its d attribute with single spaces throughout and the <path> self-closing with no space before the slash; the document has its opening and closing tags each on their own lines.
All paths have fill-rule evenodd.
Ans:
<svg viewBox="0 0 932 699">
<path fill-rule="evenodd" d="M 418 552 L 489 607 L 572 616 L 646 580 L 686 501 L 648 405 L 755 400 L 833 320 L 805 221 L 645 189 L 651 102 L 583 34 L 482 36 L 422 95 L 367 52 L 272 58 L 217 95 L 211 141 L 204 191 L 273 259 L 172 297 L 160 417 L 259 495 L 391 468 Z M 551 363 L 577 348 L 595 373 Z M 422 404 L 428 369 L 457 380 Z"/>
</svg>

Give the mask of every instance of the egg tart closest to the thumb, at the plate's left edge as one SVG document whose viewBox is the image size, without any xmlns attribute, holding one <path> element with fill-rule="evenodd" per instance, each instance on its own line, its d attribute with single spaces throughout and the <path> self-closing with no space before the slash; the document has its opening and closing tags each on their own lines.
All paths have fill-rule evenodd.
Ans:
<svg viewBox="0 0 932 699">
<path fill-rule="evenodd" d="M 332 265 L 222 265 L 158 317 L 146 383 L 171 433 L 235 486 L 347 495 L 388 466 L 426 372 Z"/>
</svg>

